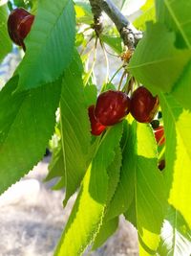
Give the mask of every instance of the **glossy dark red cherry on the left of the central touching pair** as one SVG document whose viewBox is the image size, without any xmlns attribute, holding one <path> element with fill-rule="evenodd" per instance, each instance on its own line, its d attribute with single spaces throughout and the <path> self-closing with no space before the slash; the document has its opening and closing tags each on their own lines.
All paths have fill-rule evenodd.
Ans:
<svg viewBox="0 0 191 256">
<path fill-rule="evenodd" d="M 126 93 L 109 90 L 97 98 L 96 120 L 104 126 L 113 126 L 129 113 L 129 109 L 130 99 Z"/>
</svg>

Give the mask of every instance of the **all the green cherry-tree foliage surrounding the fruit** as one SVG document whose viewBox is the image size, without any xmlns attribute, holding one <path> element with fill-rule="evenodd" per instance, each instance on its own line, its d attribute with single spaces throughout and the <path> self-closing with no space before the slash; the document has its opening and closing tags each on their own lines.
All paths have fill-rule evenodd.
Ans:
<svg viewBox="0 0 191 256">
<path fill-rule="evenodd" d="M 133 1 L 121 1 L 123 12 L 129 3 Z M 146 1 L 134 21 L 144 36 L 130 61 L 112 25 L 96 36 L 88 1 L 14 5 L 28 8 L 35 21 L 25 40 L 26 54 L 0 91 L 0 193 L 42 159 L 56 129 L 58 143 L 45 180 L 56 177 L 53 189 L 65 188 L 64 206 L 74 193 L 77 198 L 55 256 L 96 249 L 117 230 L 120 215 L 138 230 L 139 255 L 189 256 L 190 1 Z M 0 1 L 0 61 L 11 52 L 8 7 L 8 1 Z M 98 43 L 107 64 L 111 53 L 122 58 L 110 81 L 106 67 L 101 88 L 94 72 Z M 131 115 L 100 136 L 91 134 L 88 106 L 96 104 L 97 91 L 115 87 L 120 70 L 116 88 L 130 88 L 131 96 L 143 84 L 159 95 L 163 146 L 157 145 L 150 124 L 140 124 Z M 165 169 L 160 172 L 163 158 Z"/>
</svg>

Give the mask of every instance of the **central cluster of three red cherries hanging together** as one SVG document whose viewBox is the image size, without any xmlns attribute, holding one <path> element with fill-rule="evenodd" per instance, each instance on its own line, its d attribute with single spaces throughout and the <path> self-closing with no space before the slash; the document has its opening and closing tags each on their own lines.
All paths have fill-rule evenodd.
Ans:
<svg viewBox="0 0 191 256">
<path fill-rule="evenodd" d="M 91 132 L 100 135 L 105 128 L 120 122 L 129 112 L 140 123 L 150 123 L 159 109 L 159 97 L 140 86 L 131 99 L 121 91 L 109 90 L 101 93 L 96 105 L 89 106 Z"/>
</svg>

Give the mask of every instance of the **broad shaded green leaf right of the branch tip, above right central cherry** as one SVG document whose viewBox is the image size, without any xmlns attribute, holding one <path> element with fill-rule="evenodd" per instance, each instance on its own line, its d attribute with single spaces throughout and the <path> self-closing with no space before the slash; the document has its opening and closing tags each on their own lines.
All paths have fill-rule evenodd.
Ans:
<svg viewBox="0 0 191 256">
<path fill-rule="evenodd" d="M 164 25 L 148 23 L 131 58 L 129 71 L 145 86 L 170 92 L 191 59 L 191 51 L 177 49 L 174 42 L 175 34 L 168 32 Z"/>
</svg>

